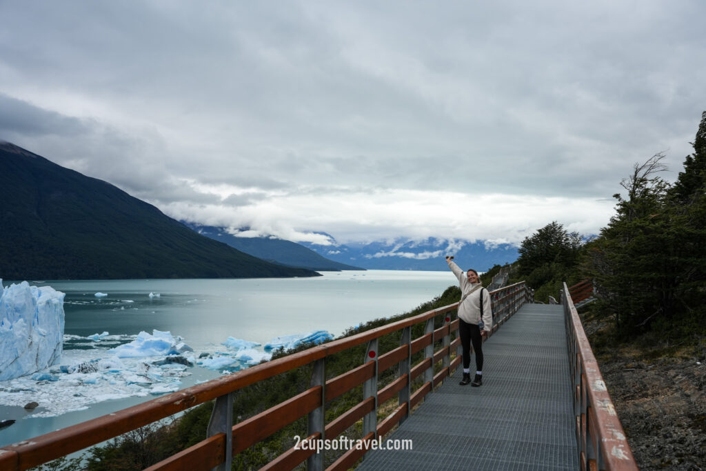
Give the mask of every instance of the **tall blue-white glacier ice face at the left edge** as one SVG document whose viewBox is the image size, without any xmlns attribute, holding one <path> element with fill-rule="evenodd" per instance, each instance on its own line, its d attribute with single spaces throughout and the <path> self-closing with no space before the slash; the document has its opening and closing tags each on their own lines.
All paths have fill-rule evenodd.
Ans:
<svg viewBox="0 0 706 471">
<path fill-rule="evenodd" d="M 2 288 L 0 381 L 59 362 L 63 340 L 64 293 L 49 286 L 30 286 L 26 281 Z"/>
</svg>

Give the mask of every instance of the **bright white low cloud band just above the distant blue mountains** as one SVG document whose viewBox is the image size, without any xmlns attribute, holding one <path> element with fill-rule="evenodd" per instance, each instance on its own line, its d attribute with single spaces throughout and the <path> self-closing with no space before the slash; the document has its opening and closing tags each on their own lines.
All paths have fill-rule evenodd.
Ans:
<svg viewBox="0 0 706 471">
<path fill-rule="evenodd" d="M 465 241 L 519 244 L 552 220 L 581 234 L 596 234 L 613 208 L 612 202 L 592 198 L 500 193 L 469 197 L 465 193 L 407 190 L 350 193 L 331 188 L 294 191 L 240 206 L 193 205 L 188 201 L 162 206 L 176 219 L 246 227 L 249 234 L 274 234 L 294 242 L 330 244 L 327 236 L 316 232 L 334 234 L 342 244 L 438 237 L 453 239 L 449 250 Z"/>
</svg>

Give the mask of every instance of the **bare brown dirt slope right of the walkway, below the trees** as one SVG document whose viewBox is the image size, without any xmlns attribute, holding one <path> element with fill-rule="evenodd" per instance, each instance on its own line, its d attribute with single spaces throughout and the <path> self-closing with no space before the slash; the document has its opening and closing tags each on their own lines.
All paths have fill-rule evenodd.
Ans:
<svg viewBox="0 0 706 471">
<path fill-rule="evenodd" d="M 640 470 L 706 470 L 703 342 L 665 350 L 638 338 L 616 348 L 601 342 L 604 327 L 584 322 Z"/>
</svg>

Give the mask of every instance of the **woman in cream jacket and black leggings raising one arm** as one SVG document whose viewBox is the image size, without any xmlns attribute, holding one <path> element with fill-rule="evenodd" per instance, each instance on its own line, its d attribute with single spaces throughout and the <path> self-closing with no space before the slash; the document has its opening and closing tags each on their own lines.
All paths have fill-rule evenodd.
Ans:
<svg viewBox="0 0 706 471">
<path fill-rule="evenodd" d="M 493 326 L 490 294 L 488 290 L 483 289 L 476 270 L 468 270 L 463 273 L 451 258 L 447 256 L 446 263 L 458 278 L 461 288 L 461 302 L 458 305 L 458 330 L 463 349 L 463 379 L 459 384 L 466 386 L 471 383 L 471 343 L 473 343 L 473 350 L 476 352 L 476 376 L 474 376 L 471 386 L 481 386 L 483 384 L 483 338 L 488 335 Z M 481 306 L 483 306 L 482 313 Z M 482 328 L 479 326 L 481 321 L 483 321 Z"/>
</svg>

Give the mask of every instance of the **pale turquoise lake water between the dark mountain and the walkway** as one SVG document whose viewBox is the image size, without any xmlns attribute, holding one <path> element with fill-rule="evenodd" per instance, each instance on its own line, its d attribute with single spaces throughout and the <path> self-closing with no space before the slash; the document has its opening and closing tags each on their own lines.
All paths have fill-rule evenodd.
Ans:
<svg viewBox="0 0 706 471">
<path fill-rule="evenodd" d="M 74 280 L 34 282 L 66 293 L 65 334 L 78 340 L 64 343 L 61 364 L 107 356 L 109 348 L 127 342 L 140 331 L 162 330 L 179 336 L 199 354 L 217 354 L 228 337 L 265 344 L 280 335 L 328 330 L 338 336 L 346 328 L 374 318 L 411 311 L 440 295 L 456 280 L 449 271 L 367 270 L 321 272 L 316 278 L 247 280 Z M 7 285 L 7 282 L 4 282 Z M 107 294 L 95 297 L 95 293 Z M 150 296 L 152 294 L 152 296 Z M 121 342 L 91 342 L 90 335 L 108 332 Z M 201 366 L 179 372 L 178 388 L 221 374 Z M 14 383 L 12 382 L 14 381 Z M 0 418 L 16 419 L 0 429 L 0 446 L 68 427 L 155 398 L 140 393 L 81 406 L 83 394 L 61 381 L 0 381 Z M 175 386 L 176 387 L 176 386 Z M 64 388 L 64 390 L 61 390 Z M 68 412 L 28 412 L 11 403 L 11 391 L 26 389 L 26 398 L 63 398 Z M 98 388 L 94 389 L 99 390 Z M 122 393 L 122 391 L 121 391 Z M 114 397 L 119 397 L 115 394 Z M 32 399 L 37 400 L 37 399 Z M 49 399 L 47 399 L 49 400 Z M 42 400 L 37 400 L 42 405 Z M 83 410 L 76 410 L 82 408 Z M 47 417 L 51 415 L 52 417 Z"/>
</svg>

